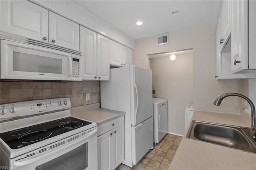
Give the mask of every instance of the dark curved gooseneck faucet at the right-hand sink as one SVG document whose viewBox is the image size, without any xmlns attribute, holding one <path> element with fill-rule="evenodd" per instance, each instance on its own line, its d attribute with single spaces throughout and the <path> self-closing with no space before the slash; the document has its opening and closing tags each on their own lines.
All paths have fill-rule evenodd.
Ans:
<svg viewBox="0 0 256 170">
<path fill-rule="evenodd" d="M 255 113 L 255 107 L 254 107 L 254 104 L 252 103 L 252 100 L 250 100 L 248 97 L 246 97 L 242 94 L 239 94 L 239 93 L 225 93 L 225 94 L 220 95 L 218 98 L 216 98 L 216 100 L 213 102 L 213 104 L 220 106 L 220 103 L 222 102 L 222 100 L 228 96 L 241 97 L 241 98 L 245 99 L 248 102 L 248 104 L 250 105 L 251 116 L 252 116 L 252 125 L 251 125 L 250 133 L 251 133 L 252 139 L 254 141 L 256 141 L 256 115 L 255 115 L 256 113 Z"/>
</svg>

